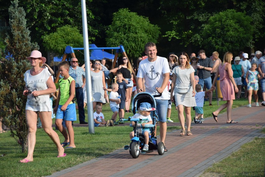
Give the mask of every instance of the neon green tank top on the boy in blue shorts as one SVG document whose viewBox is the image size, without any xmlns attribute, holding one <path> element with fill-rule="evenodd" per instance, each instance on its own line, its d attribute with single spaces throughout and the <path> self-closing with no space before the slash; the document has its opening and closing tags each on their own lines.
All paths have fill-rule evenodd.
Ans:
<svg viewBox="0 0 265 177">
<path fill-rule="evenodd" d="M 72 81 L 74 81 L 74 79 L 71 76 L 69 76 L 66 80 L 64 80 L 63 78 L 59 80 L 61 93 L 59 105 L 64 105 L 65 102 L 68 100 L 70 96 L 70 84 Z M 69 105 L 70 104 L 73 104 L 73 102 L 71 101 Z"/>
</svg>

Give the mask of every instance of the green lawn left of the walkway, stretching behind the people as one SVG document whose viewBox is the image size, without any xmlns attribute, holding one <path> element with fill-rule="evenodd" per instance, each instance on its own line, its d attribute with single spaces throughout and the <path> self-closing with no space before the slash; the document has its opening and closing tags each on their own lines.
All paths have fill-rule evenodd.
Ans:
<svg viewBox="0 0 265 177">
<path fill-rule="evenodd" d="M 216 101 L 213 101 L 213 106 L 209 106 L 208 103 L 208 101 L 205 102 L 205 118 L 212 116 L 211 113 L 219 107 L 216 105 Z M 225 102 L 219 102 L 220 105 L 223 103 Z M 247 104 L 248 102 L 245 99 L 235 100 L 233 108 Z M 174 109 L 174 105 L 172 105 L 172 108 L 171 119 L 174 122 L 178 122 L 177 111 Z M 111 118 L 112 111 L 109 108 L 109 104 L 103 105 L 103 113 L 106 120 Z M 132 113 L 126 113 L 125 118 L 132 115 Z M 194 111 L 192 111 L 192 116 L 194 116 Z M 75 123 L 79 123 L 78 115 Z M 179 129 L 179 127 L 168 127 L 168 131 L 172 129 Z M 6 154 L 6 156 L 0 157 L 0 177 L 51 175 L 56 171 L 123 148 L 124 145 L 130 143 L 129 132 L 132 131 L 132 128 L 128 126 L 96 127 L 95 134 L 89 134 L 88 127 L 74 127 L 74 131 L 77 148 L 66 150 L 66 157 L 57 158 L 57 150 L 53 142 L 43 129 L 37 129 L 34 162 L 28 164 L 19 163 L 19 160 L 26 157 L 26 153 L 21 152 L 20 146 L 18 146 L 14 138 L 10 137 L 10 132 L 1 133 L 0 155 Z M 62 142 L 62 134 L 59 131 L 57 133 Z M 157 133 L 159 134 L 159 127 Z"/>
</svg>

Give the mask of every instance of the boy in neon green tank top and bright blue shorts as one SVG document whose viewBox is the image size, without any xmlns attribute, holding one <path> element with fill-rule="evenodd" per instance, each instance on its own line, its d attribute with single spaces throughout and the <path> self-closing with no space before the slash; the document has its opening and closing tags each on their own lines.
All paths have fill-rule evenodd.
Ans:
<svg viewBox="0 0 265 177">
<path fill-rule="evenodd" d="M 73 101 L 75 97 L 75 80 L 69 75 L 70 66 L 67 61 L 59 63 L 58 68 L 63 78 L 59 80 L 58 99 L 53 109 L 53 112 L 57 112 L 55 124 L 64 136 L 64 142 L 61 145 L 63 147 L 69 145 L 65 149 L 75 148 L 74 129 L 72 127 L 72 121 L 77 120 L 76 106 Z M 62 125 L 63 120 L 65 120 L 67 130 Z"/>
</svg>

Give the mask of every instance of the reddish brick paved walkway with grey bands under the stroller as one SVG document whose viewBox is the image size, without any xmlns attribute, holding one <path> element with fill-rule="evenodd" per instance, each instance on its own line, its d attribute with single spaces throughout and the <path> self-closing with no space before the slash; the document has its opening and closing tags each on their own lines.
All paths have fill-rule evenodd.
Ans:
<svg viewBox="0 0 265 177">
<path fill-rule="evenodd" d="M 253 137 L 265 137 L 265 134 L 260 133 L 265 126 L 265 107 L 235 108 L 232 117 L 239 123 L 226 123 L 226 113 L 218 115 L 218 123 L 212 117 L 206 118 L 202 124 L 193 122 L 193 136 L 180 137 L 180 130 L 168 132 L 165 141 L 168 152 L 163 156 L 154 151 L 133 159 L 128 150 L 119 149 L 56 172 L 50 177 L 199 176 L 206 168 L 237 151 Z"/>
</svg>

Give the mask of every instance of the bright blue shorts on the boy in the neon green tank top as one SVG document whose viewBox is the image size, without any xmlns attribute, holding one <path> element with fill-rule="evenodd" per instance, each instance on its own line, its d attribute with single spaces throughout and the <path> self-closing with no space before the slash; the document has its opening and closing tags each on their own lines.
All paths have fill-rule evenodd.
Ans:
<svg viewBox="0 0 265 177">
<path fill-rule="evenodd" d="M 76 104 L 70 104 L 67 106 L 65 111 L 61 110 L 63 105 L 59 105 L 56 113 L 55 119 L 63 119 L 67 121 L 77 120 Z"/>
</svg>

